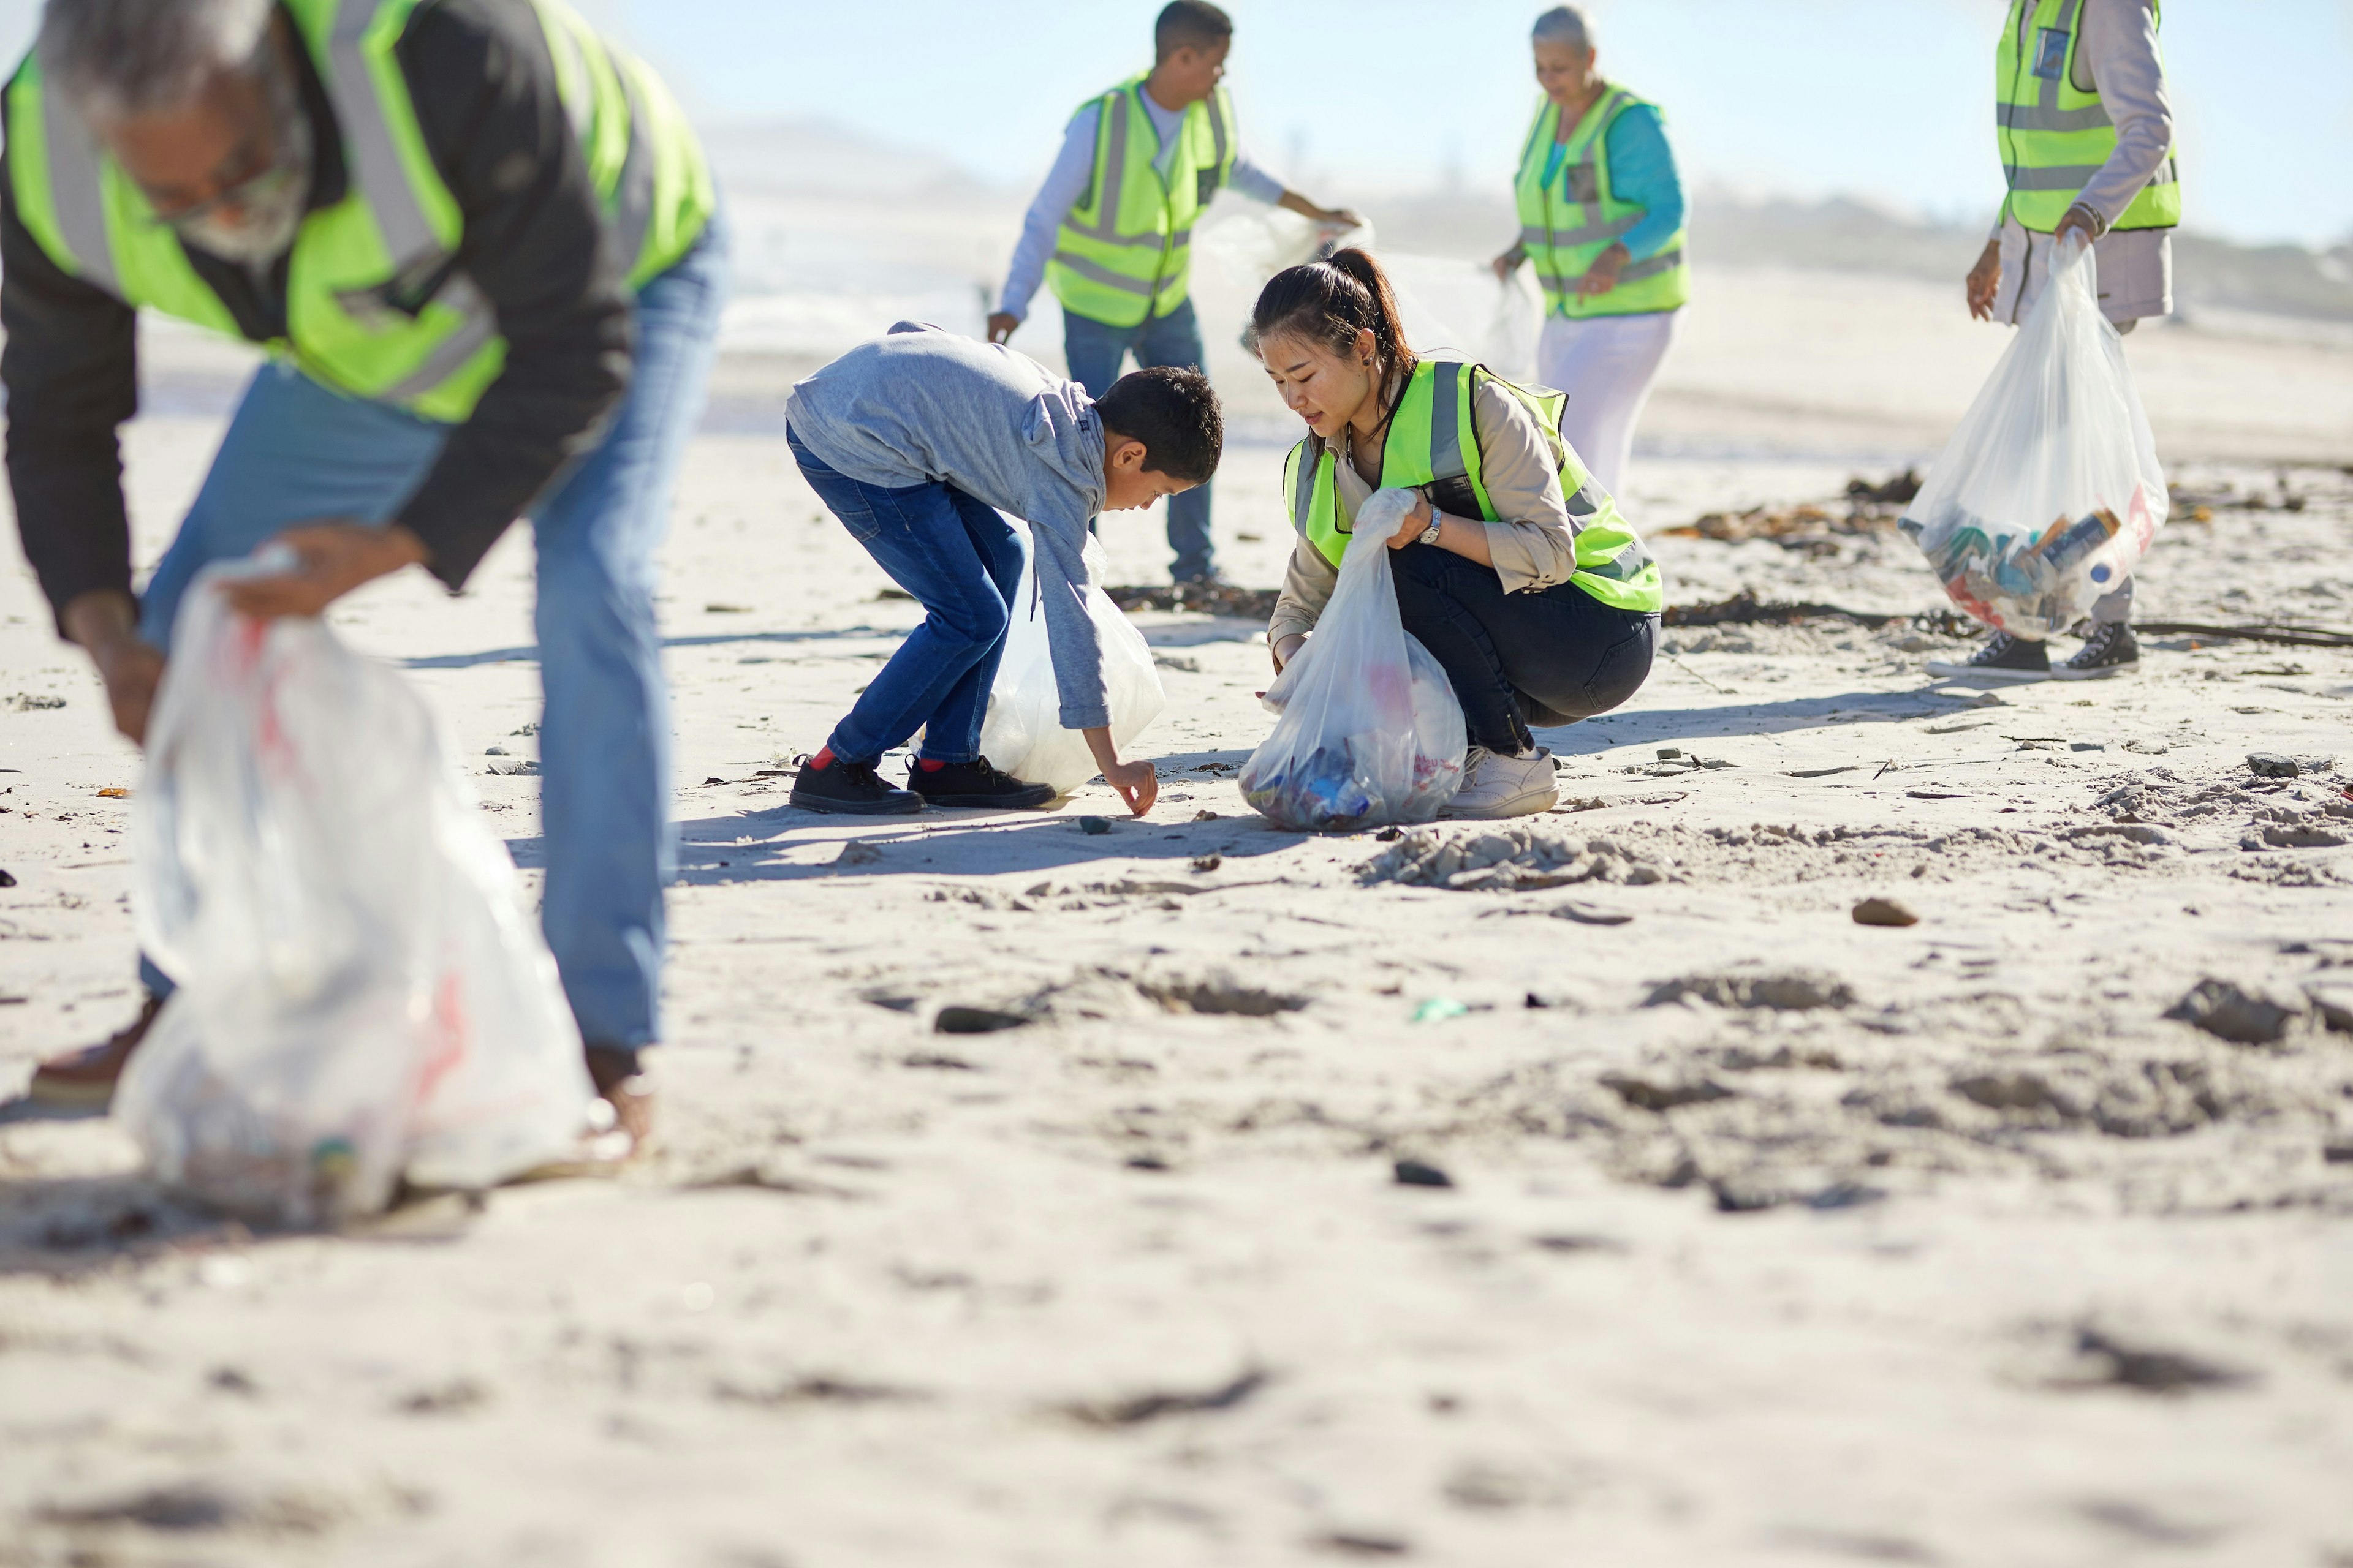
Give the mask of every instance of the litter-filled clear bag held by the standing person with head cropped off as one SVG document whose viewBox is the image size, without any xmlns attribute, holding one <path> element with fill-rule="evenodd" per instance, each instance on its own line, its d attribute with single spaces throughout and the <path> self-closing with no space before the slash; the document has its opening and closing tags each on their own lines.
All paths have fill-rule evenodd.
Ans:
<svg viewBox="0 0 2353 1568">
<path fill-rule="evenodd" d="M 2059 249 L 2049 287 L 1901 522 L 1955 604 L 2035 642 L 2120 588 L 2167 512 L 2094 268 L 2080 240 Z"/>
</svg>

